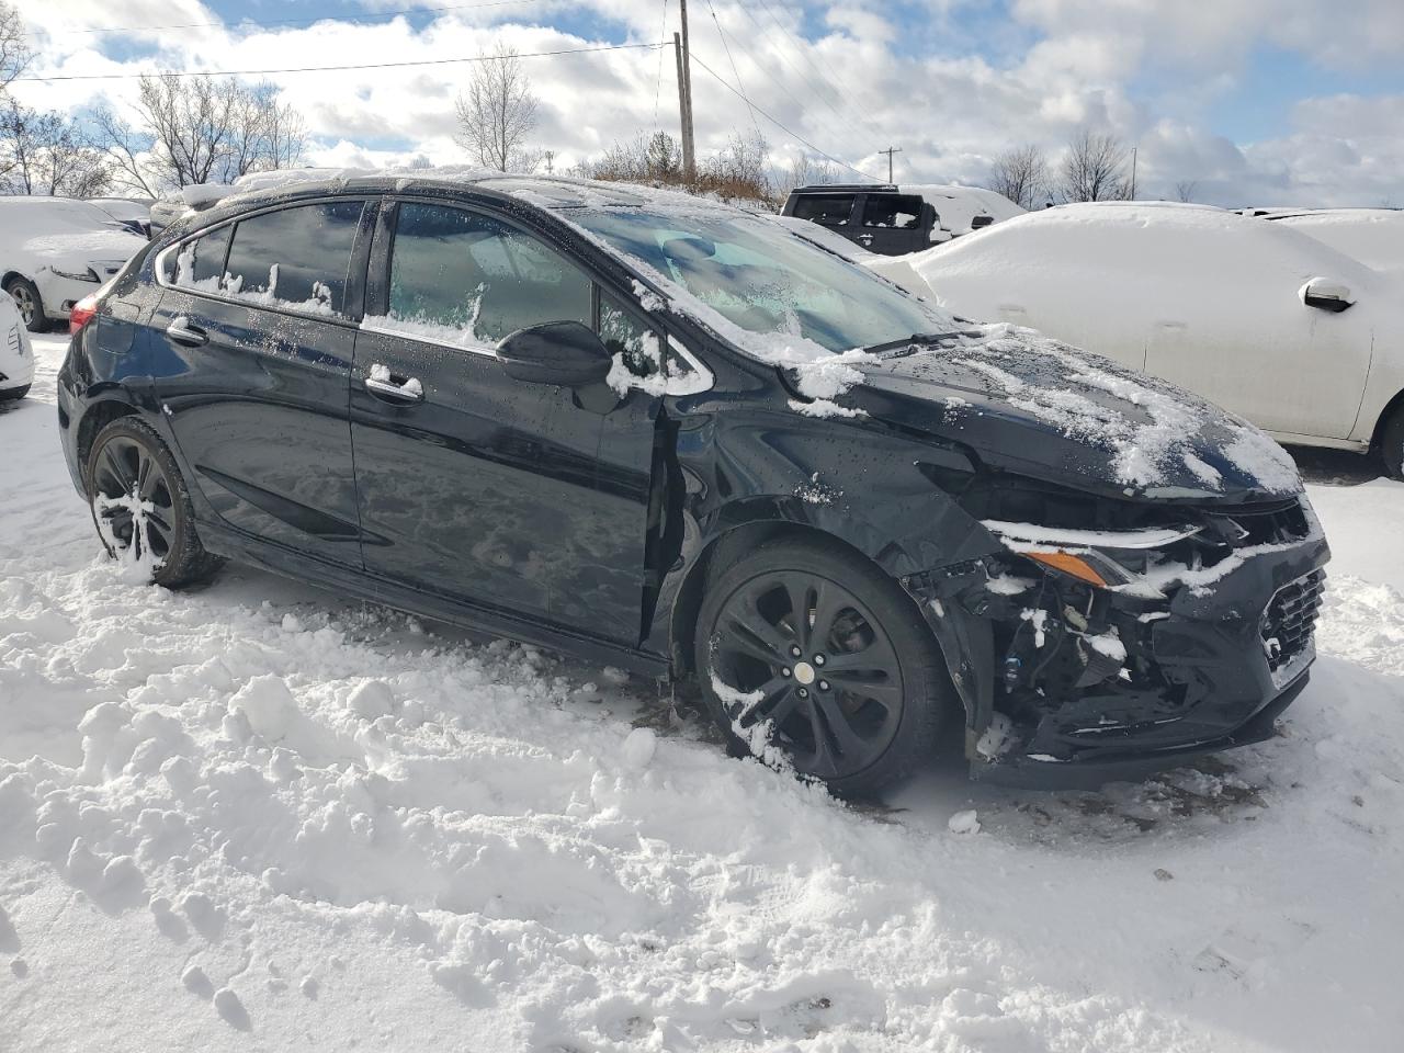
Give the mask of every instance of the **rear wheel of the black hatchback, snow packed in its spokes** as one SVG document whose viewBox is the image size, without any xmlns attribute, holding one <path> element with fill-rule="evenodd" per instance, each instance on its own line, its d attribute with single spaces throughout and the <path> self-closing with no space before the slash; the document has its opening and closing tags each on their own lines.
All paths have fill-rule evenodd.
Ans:
<svg viewBox="0 0 1404 1053">
<path fill-rule="evenodd" d="M 102 548 L 146 580 L 180 588 L 204 581 L 223 563 L 195 535 L 195 512 L 176 458 L 136 417 L 121 417 L 97 434 L 86 479 Z"/>
</svg>

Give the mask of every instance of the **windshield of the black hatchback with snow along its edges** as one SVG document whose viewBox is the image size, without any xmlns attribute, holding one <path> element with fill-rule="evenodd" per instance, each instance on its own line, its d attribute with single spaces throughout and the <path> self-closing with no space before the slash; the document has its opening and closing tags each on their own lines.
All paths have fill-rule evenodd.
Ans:
<svg viewBox="0 0 1404 1053">
<path fill-rule="evenodd" d="M 751 333 L 842 352 L 951 329 L 935 307 L 765 219 L 640 209 L 570 218 Z"/>
</svg>

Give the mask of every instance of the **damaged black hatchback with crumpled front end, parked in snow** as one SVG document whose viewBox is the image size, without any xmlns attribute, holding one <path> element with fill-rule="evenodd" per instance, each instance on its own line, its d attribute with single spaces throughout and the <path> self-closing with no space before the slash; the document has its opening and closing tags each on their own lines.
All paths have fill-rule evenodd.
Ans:
<svg viewBox="0 0 1404 1053">
<path fill-rule="evenodd" d="M 696 678 L 734 748 L 840 792 L 942 734 L 977 775 L 1134 775 L 1306 684 L 1328 553 L 1278 446 L 722 205 L 240 195 L 73 326 L 73 482 L 154 581 L 246 560 Z"/>
</svg>

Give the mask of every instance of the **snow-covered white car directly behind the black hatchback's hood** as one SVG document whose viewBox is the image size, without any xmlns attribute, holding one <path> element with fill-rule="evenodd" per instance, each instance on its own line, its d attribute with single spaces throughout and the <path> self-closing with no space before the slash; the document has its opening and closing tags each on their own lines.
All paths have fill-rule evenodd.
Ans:
<svg viewBox="0 0 1404 1053">
<path fill-rule="evenodd" d="M 1285 220 L 1168 202 L 1031 212 L 875 270 L 1161 376 L 1280 442 L 1404 477 L 1404 286 Z"/>
</svg>

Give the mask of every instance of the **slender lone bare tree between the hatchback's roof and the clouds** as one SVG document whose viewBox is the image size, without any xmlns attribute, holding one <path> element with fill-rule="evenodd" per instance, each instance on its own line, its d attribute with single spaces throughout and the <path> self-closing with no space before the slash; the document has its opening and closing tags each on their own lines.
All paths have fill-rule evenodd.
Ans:
<svg viewBox="0 0 1404 1053">
<path fill-rule="evenodd" d="M 493 55 L 483 56 L 456 110 L 458 140 L 479 164 L 514 171 L 531 160 L 541 163 L 539 153 L 531 157 L 525 150 L 536 126 L 538 100 L 515 48 L 498 42 Z"/>
</svg>

